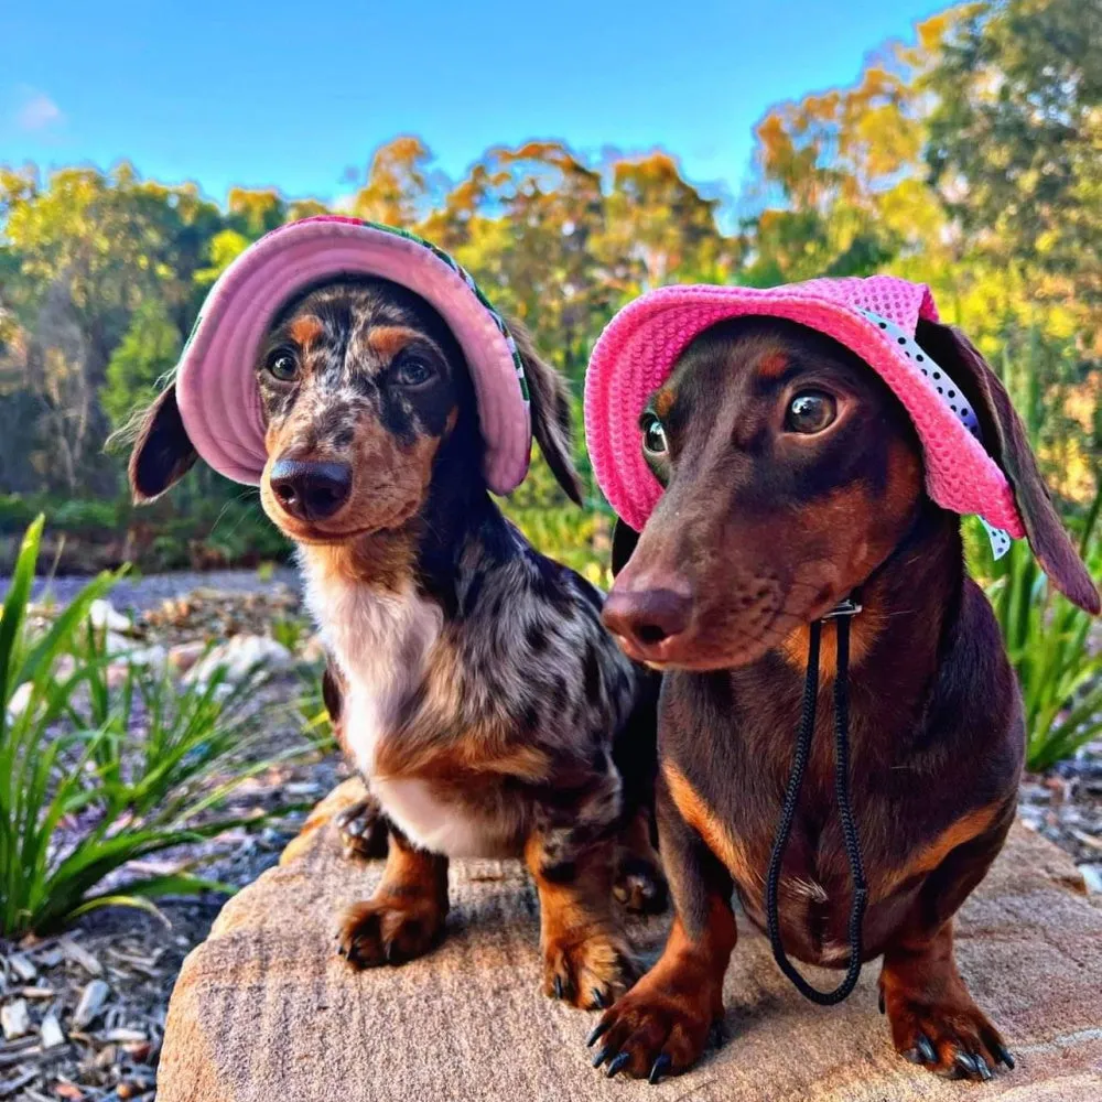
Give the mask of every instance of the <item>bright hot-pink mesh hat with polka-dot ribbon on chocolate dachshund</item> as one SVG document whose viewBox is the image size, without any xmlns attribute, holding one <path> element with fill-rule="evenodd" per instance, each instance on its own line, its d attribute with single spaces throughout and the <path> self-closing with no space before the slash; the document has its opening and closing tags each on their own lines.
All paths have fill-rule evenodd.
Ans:
<svg viewBox="0 0 1102 1102">
<path fill-rule="evenodd" d="M 915 342 L 936 322 L 929 288 L 890 276 L 817 279 L 766 290 L 665 287 L 628 303 L 601 334 L 585 376 L 585 440 L 608 503 L 641 531 L 662 487 L 640 446 L 639 415 L 678 357 L 709 326 L 764 315 L 799 322 L 864 359 L 903 402 L 926 458 L 926 486 L 942 508 L 977 514 L 996 557 L 1025 534 L 1006 476 L 979 441 L 974 410 Z"/>
</svg>

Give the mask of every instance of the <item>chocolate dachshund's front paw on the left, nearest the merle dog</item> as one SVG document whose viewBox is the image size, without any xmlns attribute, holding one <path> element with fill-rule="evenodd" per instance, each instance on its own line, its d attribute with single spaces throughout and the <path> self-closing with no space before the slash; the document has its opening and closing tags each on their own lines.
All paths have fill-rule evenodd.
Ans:
<svg viewBox="0 0 1102 1102">
<path fill-rule="evenodd" d="M 593 1067 L 611 1079 L 624 1071 L 657 1083 L 690 1068 L 707 1046 L 716 1022 L 713 993 L 705 984 L 666 984 L 642 977 L 605 1011 L 587 1044 L 597 1045 Z"/>
</svg>

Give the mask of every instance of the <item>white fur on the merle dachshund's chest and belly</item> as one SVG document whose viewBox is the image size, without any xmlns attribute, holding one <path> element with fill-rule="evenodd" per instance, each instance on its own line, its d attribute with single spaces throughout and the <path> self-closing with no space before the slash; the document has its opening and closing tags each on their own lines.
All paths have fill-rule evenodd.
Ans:
<svg viewBox="0 0 1102 1102">
<path fill-rule="evenodd" d="M 379 777 L 376 750 L 395 730 L 401 704 L 425 676 L 443 615 L 410 586 L 387 593 L 334 576 L 303 559 L 306 602 L 346 681 L 344 736 L 356 765 L 391 821 L 425 850 L 479 856 L 477 823 L 434 799 L 417 779 Z"/>
</svg>

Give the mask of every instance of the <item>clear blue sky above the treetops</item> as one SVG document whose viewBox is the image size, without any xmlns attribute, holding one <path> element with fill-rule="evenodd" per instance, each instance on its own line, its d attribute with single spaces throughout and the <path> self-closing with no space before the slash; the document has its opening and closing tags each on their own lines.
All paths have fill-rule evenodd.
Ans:
<svg viewBox="0 0 1102 1102">
<path fill-rule="evenodd" d="M 332 201 L 380 141 L 662 147 L 737 194 L 765 109 L 852 83 L 937 0 L 0 0 L 0 163 L 128 158 Z"/>
</svg>

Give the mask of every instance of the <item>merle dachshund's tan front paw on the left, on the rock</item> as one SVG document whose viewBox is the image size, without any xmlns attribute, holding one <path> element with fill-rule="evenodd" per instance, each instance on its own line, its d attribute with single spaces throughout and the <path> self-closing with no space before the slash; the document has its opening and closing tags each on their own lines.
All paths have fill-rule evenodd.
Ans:
<svg viewBox="0 0 1102 1102">
<path fill-rule="evenodd" d="M 403 964 L 435 947 L 445 915 L 430 895 L 387 893 L 354 904 L 341 917 L 337 952 L 354 968 Z"/>
</svg>

